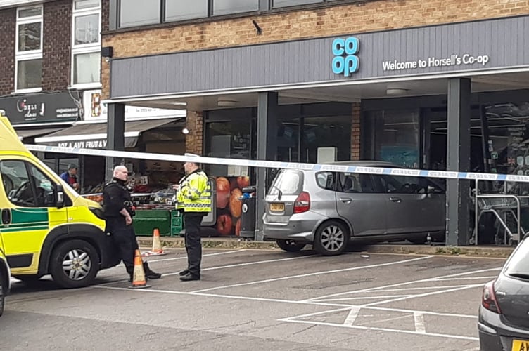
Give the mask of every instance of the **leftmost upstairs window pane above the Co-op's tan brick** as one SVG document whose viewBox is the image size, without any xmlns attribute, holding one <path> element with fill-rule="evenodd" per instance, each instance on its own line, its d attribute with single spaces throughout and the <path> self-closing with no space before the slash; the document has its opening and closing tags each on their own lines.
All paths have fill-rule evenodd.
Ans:
<svg viewBox="0 0 529 351">
<path fill-rule="evenodd" d="M 186 3 L 188 6 L 189 3 Z M 145 0 L 120 1 L 120 27 L 136 27 L 160 23 L 161 2 Z"/>
</svg>

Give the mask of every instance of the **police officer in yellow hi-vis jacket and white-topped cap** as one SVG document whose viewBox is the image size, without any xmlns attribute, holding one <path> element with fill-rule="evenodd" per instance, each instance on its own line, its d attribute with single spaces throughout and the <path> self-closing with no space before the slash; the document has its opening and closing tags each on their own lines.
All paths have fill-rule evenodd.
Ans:
<svg viewBox="0 0 529 351">
<path fill-rule="evenodd" d="M 185 154 L 186 156 L 196 156 Z M 211 185 L 208 176 L 195 162 L 184 164 L 186 176 L 180 180 L 177 189 L 177 209 L 184 213 L 186 229 L 187 269 L 180 272 L 180 280 L 200 280 L 200 262 L 202 243 L 200 241 L 200 223 L 211 212 Z"/>
</svg>

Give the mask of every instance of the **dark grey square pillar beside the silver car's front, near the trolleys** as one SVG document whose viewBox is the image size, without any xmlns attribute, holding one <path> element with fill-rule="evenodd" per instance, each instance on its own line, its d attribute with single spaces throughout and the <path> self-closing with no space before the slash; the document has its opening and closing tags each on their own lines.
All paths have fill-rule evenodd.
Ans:
<svg viewBox="0 0 529 351">
<path fill-rule="evenodd" d="M 452 78 L 448 81 L 447 171 L 470 171 L 471 81 Z M 447 180 L 446 244 L 466 246 L 470 237 L 469 180 Z"/>
</svg>

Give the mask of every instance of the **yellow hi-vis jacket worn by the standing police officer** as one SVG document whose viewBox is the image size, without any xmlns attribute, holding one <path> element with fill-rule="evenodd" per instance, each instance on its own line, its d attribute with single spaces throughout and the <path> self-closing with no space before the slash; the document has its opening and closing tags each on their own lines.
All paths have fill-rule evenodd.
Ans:
<svg viewBox="0 0 529 351">
<path fill-rule="evenodd" d="M 177 209 L 184 212 L 211 212 L 211 185 L 201 169 L 180 180 L 177 191 Z"/>
</svg>

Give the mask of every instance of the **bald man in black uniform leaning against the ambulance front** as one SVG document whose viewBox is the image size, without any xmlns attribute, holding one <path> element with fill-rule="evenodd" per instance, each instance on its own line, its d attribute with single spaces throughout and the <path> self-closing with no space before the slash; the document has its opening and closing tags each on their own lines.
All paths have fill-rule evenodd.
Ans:
<svg viewBox="0 0 529 351">
<path fill-rule="evenodd" d="M 125 264 L 130 281 L 134 274 L 134 252 L 138 249 L 136 233 L 132 227 L 134 207 L 129 190 L 125 187 L 128 171 L 125 166 L 114 168 L 112 182 L 105 185 L 103 190 L 103 211 L 106 218 L 106 232 L 110 232 Z M 153 272 L 144 262 L 145 277 L 158 279 L 162 274 Z"/>
</svg>

